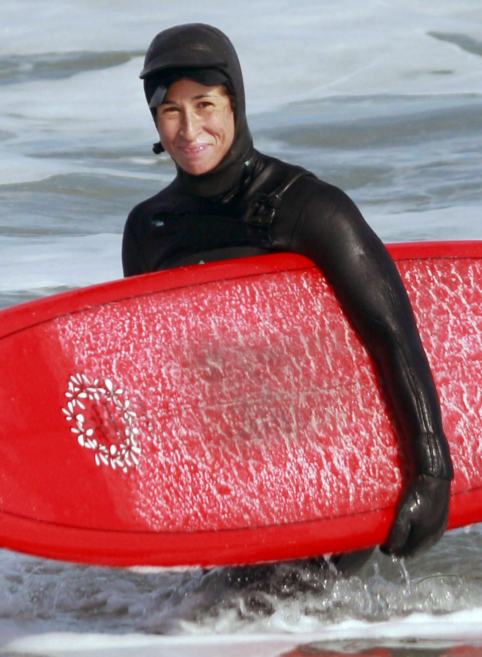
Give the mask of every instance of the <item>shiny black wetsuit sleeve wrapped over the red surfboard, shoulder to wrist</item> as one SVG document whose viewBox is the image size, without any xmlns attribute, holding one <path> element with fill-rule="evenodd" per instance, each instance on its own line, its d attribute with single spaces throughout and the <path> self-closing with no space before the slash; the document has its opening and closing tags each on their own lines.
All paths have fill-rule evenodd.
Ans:
<svg viewBox="0 0 482 657">
<path fill-rule="evenodd" d="M 418 476 L 450 480 L 439 399 L 395 263 L 350 198 L 327 186 L 306 202 L 293 250 L 322 269 L 379 369 Z"/>
</svg>

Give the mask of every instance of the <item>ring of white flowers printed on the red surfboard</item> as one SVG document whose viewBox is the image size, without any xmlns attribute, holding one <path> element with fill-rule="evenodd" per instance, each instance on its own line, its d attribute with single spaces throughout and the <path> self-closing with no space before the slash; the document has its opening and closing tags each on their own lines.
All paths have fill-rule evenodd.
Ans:
<svg viewBox="0 0 482 657">
<path fill-rule="evenodd" d="M 98 378 L 89 381 L 85 374 L 72 374 L 65 396 L 68 401 L 62 412 L 70 431 L 81 447 L 93 450 L 98 466 L 127 472 L 139 464 L 137 414 L 130 408 L 129 399 L 122 398 L 122 388 L 114 386 L 110 378 L 101 384 Z M 109 436 L 109 444 L 101 442 L 97 434 L 101 434 L 102 440 Z"/>
</svg>

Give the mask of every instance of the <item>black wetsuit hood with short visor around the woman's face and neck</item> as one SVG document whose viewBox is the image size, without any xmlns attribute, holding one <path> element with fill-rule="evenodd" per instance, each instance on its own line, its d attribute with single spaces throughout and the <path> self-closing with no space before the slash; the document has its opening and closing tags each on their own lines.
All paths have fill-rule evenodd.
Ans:
<svg viewBox="0 0 482 657">
<path fill-rule="evenodd" d="M 158 89 L 176 79 L 196 79 L 203 70 L 218 70 L 226 78 L 226 87 L 233 103 L 235 135 L 231 148 L 212 171 L 191 175 L 178 165 L 178 179 L 187 191 L 199 196 L 214 196 L 233 191 L 242 184 L 251 167 L 253 140 L 246 120 L 245 91 L 241 66 L 228 37 L 217 28 L 203 23 L 177 25 L 155 36 L 145 55 L 140 77 L 144 81 L 147 103 Z M 162 91 L 159 94 L 162 97 Z M 154 110 L 155 111 L 155 110 Z M 155 152 L 164 150 L 155 145 Z"/>
</svg>

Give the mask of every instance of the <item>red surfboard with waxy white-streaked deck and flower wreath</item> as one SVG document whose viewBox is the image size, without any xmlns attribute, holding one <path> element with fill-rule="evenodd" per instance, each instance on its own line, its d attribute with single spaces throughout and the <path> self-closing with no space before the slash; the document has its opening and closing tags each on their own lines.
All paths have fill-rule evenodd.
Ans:
<svg viewBox="0 0 482 657">
<path fill-rule="evenodd" d="M 389 247 L 482 520 L 482 242 Z M 212 566 L 381 543 L 406 463 L 372 362 L 292 254 L 183 267 L 0 313 L 0 545 Z"/>
</svg>

